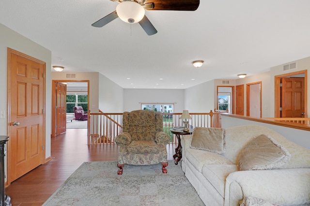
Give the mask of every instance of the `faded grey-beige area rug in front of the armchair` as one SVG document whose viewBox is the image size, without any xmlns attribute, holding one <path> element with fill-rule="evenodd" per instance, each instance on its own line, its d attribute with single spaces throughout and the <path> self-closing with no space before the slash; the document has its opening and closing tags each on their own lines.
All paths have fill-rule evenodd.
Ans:
<svg viewBox="0 0 310 206">
<path fill-rule="evenodd" d="M 204 206 L 181 162 L 123 167 L 117 162 L 84 162 L 43 206 Z"/>
</svg>

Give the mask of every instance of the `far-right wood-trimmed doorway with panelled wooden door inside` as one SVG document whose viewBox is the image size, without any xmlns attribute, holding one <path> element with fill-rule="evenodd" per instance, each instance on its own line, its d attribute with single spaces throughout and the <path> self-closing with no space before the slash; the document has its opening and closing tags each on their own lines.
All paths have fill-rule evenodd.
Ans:
<svg viewBox="0 0 310 206">
<path fill-rule="evenodd" d="M 307 118 L 307 70 L 275 76 L 275 118 Z"/>
</svg>

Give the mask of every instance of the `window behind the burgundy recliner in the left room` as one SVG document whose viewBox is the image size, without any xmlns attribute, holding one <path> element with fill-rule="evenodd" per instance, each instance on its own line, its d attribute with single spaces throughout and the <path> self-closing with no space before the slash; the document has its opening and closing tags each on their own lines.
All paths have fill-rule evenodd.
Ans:
<svg viewBox="0 0 310 206">
<path fill-rule="evenodd" d="M 82 106 L 84 112 L 88 111 L 88 95 L 87 92 L 67 92 L 67 110 L 66 113 L 74 113 L 73 107 Z"/>
</svg>

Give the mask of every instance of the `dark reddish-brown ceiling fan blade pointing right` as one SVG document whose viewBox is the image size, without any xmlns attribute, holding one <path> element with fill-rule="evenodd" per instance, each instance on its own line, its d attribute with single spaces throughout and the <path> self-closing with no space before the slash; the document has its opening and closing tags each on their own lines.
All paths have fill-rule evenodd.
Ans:
<svg viewBox="0 0 310 206">
<path fill-rule="evenodd" d="M 153 4 L 153 8 L 147 10 L 174 10 L 195 11 L 199 7 L 199 0 L 146 0 L 144 4 Z"/>
</svg>

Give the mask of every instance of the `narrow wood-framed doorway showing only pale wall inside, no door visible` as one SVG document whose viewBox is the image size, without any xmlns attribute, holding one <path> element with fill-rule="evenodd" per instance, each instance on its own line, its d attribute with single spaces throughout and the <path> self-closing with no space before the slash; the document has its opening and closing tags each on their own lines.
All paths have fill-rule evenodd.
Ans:
<svg viewBox="0 0 310 206">
<path fill-rule="evenodd" d="M 262 82 L 247 84 L 247 116 L 262 117 Z"/>
</svg>

